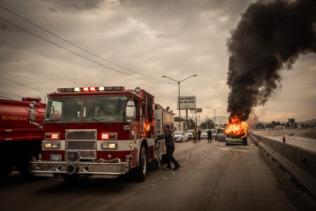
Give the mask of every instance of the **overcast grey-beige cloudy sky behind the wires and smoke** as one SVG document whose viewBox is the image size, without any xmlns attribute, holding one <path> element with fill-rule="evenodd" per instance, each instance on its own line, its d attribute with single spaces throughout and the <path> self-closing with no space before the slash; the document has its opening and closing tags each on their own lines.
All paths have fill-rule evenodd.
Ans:
<svg viewBox="0 0 316 211">
<path fill-rule="evenodd" d="M 222 106 L 216 110 L 216 116 L 228 116 L 226 81 L 229 54 L 226 40 L 230 37 L 230 30 L 240 21 L 240 14 L 252 2 L 1 0 L 0 6 L 131 71 L 87 53 L 0 8 L 0 17 L 4 20 L 87 58 L 0 19 L 0 76 L 47 93 L 68 87 L 124 86 L 134 89 L 139 86 L 153 94 L 156 103 L 169 106 L 177 116 L 178 84 L 165 83 L 173 81 L 161 76 L 183 80 L 197 74 L 180 84 L 180 95 L 197 96 L 197 108 L 203 111 L 201 119 L 214 115 L 207 107 Z M 282 77 L 276 94 L 264 107 L 254 109 L 258 119 L 315 119 L 315 54 L 301 55 L 292 70 L 283 71 Z M 46 97 L 43 92 L 3 78 L 0 78 L 0 91 L 2 96 L 7 92 Z M 182 115 L 185 111 L 181 112 Z"/>
</svg>

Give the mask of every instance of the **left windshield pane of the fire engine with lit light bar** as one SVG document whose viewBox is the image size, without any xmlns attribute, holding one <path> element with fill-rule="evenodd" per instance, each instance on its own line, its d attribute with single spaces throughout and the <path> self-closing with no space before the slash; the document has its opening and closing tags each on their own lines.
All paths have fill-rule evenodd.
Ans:
<svg viewBox="0 0 316 211">
<path fill-rule="evenodd" d="M 47 100 L 45 121 L 80 122 L 83 97 L 50 98 Z"/>
</svg>

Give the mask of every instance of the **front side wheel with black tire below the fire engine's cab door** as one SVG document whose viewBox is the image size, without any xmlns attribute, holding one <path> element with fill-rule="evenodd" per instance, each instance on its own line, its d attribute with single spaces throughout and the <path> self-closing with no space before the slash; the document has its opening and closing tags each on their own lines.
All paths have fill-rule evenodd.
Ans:
<svg viewBox="0 0 316 211">
<path fill-rule="evenodd" d="M 146 179 L 148 172 L 148 155 L 144 146 L 139 151 L 138 166 L 131 170 L 131 179 L 133 181 L 142 182 Z"/>
</svg>

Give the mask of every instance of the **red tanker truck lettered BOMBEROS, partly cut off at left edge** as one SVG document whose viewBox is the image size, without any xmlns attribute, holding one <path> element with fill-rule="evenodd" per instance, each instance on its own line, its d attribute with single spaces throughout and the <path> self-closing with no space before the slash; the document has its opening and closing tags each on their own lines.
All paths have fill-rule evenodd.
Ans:
<svg viewBox="0 0 316 211">
<path fill-rule="evenodd" d="M 3 163 L 0 177 L 20 171 L 23 177 L 32 177 L 29 162 L 41 152 L 42 129 L 30 125 L 27 110 L 36 102 L 34 121 L 42 122 L 46 104 L 39 98 L 22 98 L 22 101 L 0 99 L 0 147 Z M 5 160 L 5 162 L 4 162 Z"/>
</svg>

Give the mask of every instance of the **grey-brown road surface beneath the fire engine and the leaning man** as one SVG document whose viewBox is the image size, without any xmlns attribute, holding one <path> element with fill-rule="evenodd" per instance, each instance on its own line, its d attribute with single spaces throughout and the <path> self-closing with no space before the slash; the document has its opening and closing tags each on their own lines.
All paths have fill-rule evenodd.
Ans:
<svg viewBox="0 0 316 211">
<path fill-rule="evenodd" d="M 183 165 L 194 144 L 175 146 L 174 157 Z M 140 183 L 128 177 L 28 181 L 13 172 L 0 178 L 0 187 L 0 210 L 295 210 L 258 147 L 214 140 L 196 144 L 190 161 L 177 171 L 152 163 Z"/>
</svg>

